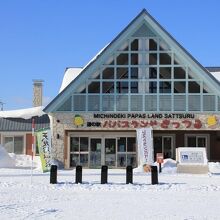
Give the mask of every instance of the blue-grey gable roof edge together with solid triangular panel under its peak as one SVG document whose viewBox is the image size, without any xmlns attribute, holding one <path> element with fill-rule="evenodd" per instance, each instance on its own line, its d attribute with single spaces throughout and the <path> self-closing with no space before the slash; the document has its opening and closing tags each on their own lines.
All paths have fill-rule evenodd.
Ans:
<svg viewBox="0 0 220 220">
<path fill-rule="evenodd" d="M 95 58 L 89 62 L 76 77 L 52 102 L 44 109 L 45 112 L 53 112 L 67 101 L 74 88 L 80 83 L 86 81 L 89 75 L 94 73 L 98 66 L 102 65 L 120 45 L 123 44 L 129 36 L 147 36 L 159 35 L 168 45 L 172 45 L 175 53 L 179 54 L 184 63 L 192 67 L 192 71 L 199 72 L 199 77 L 207 82 L 208 86 L 215 89 L 219 95 L 219 82 L 194 59 L 148 12 L 144 9 L 108 46 L 106 46 Z"/>
</svg>

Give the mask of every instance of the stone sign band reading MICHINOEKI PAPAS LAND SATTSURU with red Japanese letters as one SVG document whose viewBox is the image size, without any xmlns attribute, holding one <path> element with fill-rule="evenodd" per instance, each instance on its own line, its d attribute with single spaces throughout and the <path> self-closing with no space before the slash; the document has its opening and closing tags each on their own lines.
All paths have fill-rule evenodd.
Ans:
<svg viewBox="0 0 220 220">
<path fill-rule="evenodd" d="M 149 127 L 154 130 L 218 130 L 220 115 L 86 113 L 74 115 L 71 125 L 76 129 L 91 130 L 136 130 Z"/>
</svg>

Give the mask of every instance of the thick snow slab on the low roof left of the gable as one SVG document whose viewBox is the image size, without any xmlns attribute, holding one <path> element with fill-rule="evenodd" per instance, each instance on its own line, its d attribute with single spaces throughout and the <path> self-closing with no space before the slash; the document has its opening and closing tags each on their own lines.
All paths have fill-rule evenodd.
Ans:
<svg viewBox="0 0 220 220">
<path fill-rule="evenodd" d="M 42 116 L 46 114 L 43 112 L 43 106 L 19 109 L 19 110 L 11 110 L 11 111 L 0 111 L 0 118 L 23 118 L 29 119 L 34 116 Z"/>
</svg>

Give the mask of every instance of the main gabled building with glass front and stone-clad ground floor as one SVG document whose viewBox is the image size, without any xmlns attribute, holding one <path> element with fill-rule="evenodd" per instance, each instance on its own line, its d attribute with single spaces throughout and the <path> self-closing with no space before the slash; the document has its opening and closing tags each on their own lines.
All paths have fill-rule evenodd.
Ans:
<svg viewBox="0 0 220 220">
<path fill-rule="evenodd" d="M 136 166 L 136 129 L 144 127 L 153 128 L 155 155 L 204 147 L 220 160 L 220 83 L 146 10 L 66 74 L 72 81 L 44 109 L 53 156 L 66 168 Z"/>
</svg>

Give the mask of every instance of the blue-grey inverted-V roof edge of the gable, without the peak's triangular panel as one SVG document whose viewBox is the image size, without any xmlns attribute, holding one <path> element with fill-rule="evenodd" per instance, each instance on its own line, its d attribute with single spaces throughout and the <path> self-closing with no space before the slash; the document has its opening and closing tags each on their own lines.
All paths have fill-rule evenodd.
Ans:
<svg viewBox="0 0 220 220">
<path fill-rule="evenodd" d="M 104 49 L 98 53 L 97 56 L 95 56 L 81 71 L 81 73 L 61 92 L 59 93 L 44 109 L 45 112 L 53 112 L 58 105 L 65 100 L 65 98 L 71 94 L 72 88 L 77 85 L 79 80 L 86 80 L 87 74 L 89 72 L 95 70 L 95 66 L 98 64 L 101 64 L 101 61 L 103 61 L 108 53 L 111 53 L 114 51 L 114 49 L 117 48 L 118 45 L 122 42 L 122 40 L 126 39 L 126 37 L 131 34 L 131 31 L 137 30 L 137 27 L 140 27 L 141 24 L 144 22 L 147 22 L 152 29 L 160 36 L 163 36 L 163 38 L 170 44 L 173 45 L 176 51 L 178 51 L 179 54 L 181 54 L 182 57 L 184 57 L 185 61 L 190 63 L 192 66 L 194 66 L 196 69 L 199 69 L 203 72 L 203 79 L 210 83 L 210 78 L 212 81 L 212 86 L 215 86 L 215 90 L 219 92 L 219 86 L 220 83 L 218 80 L 213 77 L 210 72 L 204 68 L 189 52 L 187 52 L 147 11 L 146 9 L 143 9 L 129 24 L 128 26 L 118 34 L 118 36 Z"/>
</svg>

